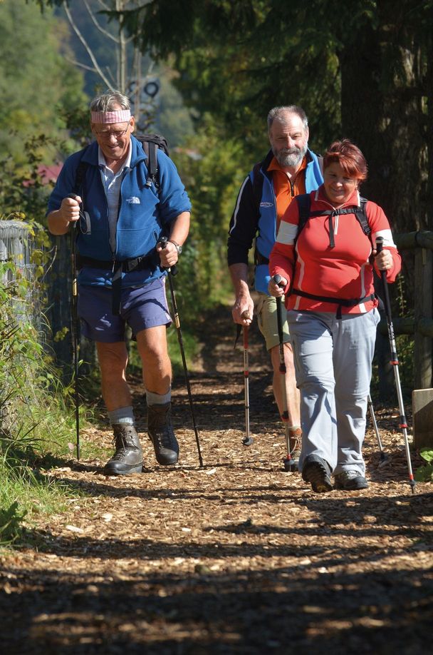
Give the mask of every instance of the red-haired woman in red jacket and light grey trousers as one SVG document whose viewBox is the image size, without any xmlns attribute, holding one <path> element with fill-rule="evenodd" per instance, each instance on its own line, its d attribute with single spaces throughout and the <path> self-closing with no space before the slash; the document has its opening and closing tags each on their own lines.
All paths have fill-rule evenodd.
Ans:
<svg viewBox="0 0 433 655">
<path fill-rule="evenodd" d="M 336 489 L 368 486 L 362 442 L 379 322 L 373 266 L 394 282 L 401 260 L 378 205 L 365 203 L 370 234 L 357 218 L 366 177 L 360 149 L 335 141 L 323 158 L 324 183 L 309 194 L 310 218 L 299 231 L 300 204 L 291 203 L 269 262 L 271 276 L 281 276 L 280 285 L 271 279 L 269 293 L 286 294 L 301 391 L 299 469 L 315 492 L 333 489 L 331 474 Z M 372 245 L 377 237 L 381 253 Z"/>
</svg>

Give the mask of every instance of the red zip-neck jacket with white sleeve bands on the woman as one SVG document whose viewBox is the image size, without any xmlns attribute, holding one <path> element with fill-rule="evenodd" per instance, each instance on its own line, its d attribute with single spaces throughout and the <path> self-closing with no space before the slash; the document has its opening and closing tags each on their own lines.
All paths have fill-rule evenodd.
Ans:
<svg viewBox="0 0 433 655">
<path fill-rule="evenodd" d="M 325 196 L 323 185 L 310 195 L 311 211 L 334 209 Z M 343 207 L 359 205 L 359 193 L 354 191 Z M 288 280 L 285 292 L 292 287 L 292 293 L 286 293 L 287 309 L 335 313 L 340 307 L 338 303 L 303 298 L 296 295 L 296 290 L 343 300 L 360 299 L 374 294 L 373 268 L 369 258 L 372 243 L 376 243 L 378 236 L 383 237 L 384 248 L 392 254 L 394 266 L 387 270 L 387 280 L 394 282 L 400 272 L 401 258 L 392 240 L 390 223 L 382 208 L 370 200 L 365 210 L 371 230 L 370 237 L 363 233 L 355 214 L 333 216 L 335 247 L 330 248 L 329 215 L 310 218 L 296 240 L 298 203 L 293 202 L 288 206 L 269 259 L 271 275 L 278 274 Z M 369 299 L 353 307 L 341 306 L 341 313 L 365 313 L 376 306 L 377 300 Z"/>
</svg>

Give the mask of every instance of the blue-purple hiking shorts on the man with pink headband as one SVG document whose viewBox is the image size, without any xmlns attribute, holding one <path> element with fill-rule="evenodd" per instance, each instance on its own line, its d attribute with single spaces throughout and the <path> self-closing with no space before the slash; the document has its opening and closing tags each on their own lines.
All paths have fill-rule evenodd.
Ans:
<svg viewBox="0 0 433 655">
<path fill-rule="evenodd" d="M 157 278 L 138 289 L 122 289 L 120 315 L 111 311 L 112 290 L 79 285 L 78 317 L 81 333 L 93 341 L 115 343 L 125 340 L 125 326 L 135 337 L 140 330 L 170 325 L 165 296 L 165 277 Z"/>
</svg>

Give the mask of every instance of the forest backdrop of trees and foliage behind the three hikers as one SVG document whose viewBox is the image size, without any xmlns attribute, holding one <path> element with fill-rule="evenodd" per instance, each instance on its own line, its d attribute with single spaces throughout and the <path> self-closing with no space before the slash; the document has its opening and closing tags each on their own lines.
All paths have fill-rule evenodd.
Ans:
<svg viewBox="0 0 433 655">
<path fill-rule="evenodd" d="M 194 347 L 197 319 L 231 298 L 229 218 L 244 176 L 268 151 L 273 106 L 305 108 L 317 153 L 335 138 L 360 146 L 369 165 L 362 193 L 382 205 L 395 233 L 432 230 L 432 9 L 432 0 L 1 0 L 1 218 L 24 218 L 39 235 L 36 273 L 49 287 L 53 240 L 43 228 L 56 166 L 89 141 L 90 99 L 120 88 L 139 130 L 167 137 L 192 198 L 176 287 Z M 60 255 L 57 265 L 67 268 Z M 417 291 L 405 253 L 400 313 L 413 314 Z M 47 297 L 49 319 L 59 305 Z M 65 307 L 52 338 L 67 359 Z M 4 318 L 5 361 L 9 329 Z M 0 368 L 0 409 L 14 395 L 10 370 Z M 51 385 L 56 376 L 40 377 Z"/>
</svg>

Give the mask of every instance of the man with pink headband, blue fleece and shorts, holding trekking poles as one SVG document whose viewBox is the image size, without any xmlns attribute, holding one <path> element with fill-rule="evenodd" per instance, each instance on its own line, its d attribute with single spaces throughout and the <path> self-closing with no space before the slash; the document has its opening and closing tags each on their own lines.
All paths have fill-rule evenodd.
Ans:
<svg viewBox="0 0 433 655">
<path fill-rule="evenodd" d="M 174 163 L 161 150 L 158 179 L 150 181 L 147 156 L 132 136 L 135 123 L 126 96 L 108 90 L 94 98 L 90 123 L 95 141 L 64 163 L 48 201 L 48 228 L 54 235 L 68 233 L 75 223 L 79 228 L 78 315 L 83 335 L 96 343 L 113 427 L 115 453 L 104 470 L 120 475 L 141 472 L 143 464 L 125 375 L 126 325 L 142 360 L 147 432 L 157 462 L 175 464 L 179 456 L 171 422 L 165 269 L 182 252 L 191 203 Z"/>
</svg>

